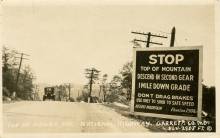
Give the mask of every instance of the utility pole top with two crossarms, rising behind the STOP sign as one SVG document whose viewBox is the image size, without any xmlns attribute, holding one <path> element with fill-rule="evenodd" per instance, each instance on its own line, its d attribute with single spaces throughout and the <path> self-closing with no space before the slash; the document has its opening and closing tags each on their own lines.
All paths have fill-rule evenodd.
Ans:
<svg viewBox="0 0 220 138">
<path fill-rule="evenodd" d="M 167 38 L 167 36 L 156 35 L 156 34 L 152 34 L 151 32 L 141 33 L 141 32 L 132 31 L 131 33 L 147 36 L 147 41 L 140 40 L 140 39 L 134 39 L 133 40 L 133 42 L 144 42 L 144 43 L 146 43 L 146 47 L 150 47 L 150 44 L 163 45 L 162 43 L 152 42 L 151 37 Z"/>
</svg>

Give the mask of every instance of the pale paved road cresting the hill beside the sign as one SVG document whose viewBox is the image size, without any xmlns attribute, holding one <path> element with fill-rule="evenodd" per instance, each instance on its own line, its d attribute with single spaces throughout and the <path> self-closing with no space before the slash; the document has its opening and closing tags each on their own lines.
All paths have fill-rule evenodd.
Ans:
<svg viewBox="0 0 220 138">
<path fill-rule="evenodd" d="M 149 132 L 137 121 L 94 103 L 22 101 L 3 104 L 5 133 Z"/>
</svg>

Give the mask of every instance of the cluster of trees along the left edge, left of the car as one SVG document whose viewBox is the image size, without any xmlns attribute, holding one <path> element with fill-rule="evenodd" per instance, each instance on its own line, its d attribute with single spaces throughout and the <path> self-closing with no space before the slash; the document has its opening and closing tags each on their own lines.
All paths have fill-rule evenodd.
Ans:
<svg viewBox="0 0 220 138">
<path fill-rule="evenodd" d="M 34 74 L 29 65 L 22 65 L 19 71 L 19 52 L 3 46 L 2 49 L 2 86 L 3 100 L 33 99 Z M 18 77 L 19 75 L 19 77 Z"/>
</svg>

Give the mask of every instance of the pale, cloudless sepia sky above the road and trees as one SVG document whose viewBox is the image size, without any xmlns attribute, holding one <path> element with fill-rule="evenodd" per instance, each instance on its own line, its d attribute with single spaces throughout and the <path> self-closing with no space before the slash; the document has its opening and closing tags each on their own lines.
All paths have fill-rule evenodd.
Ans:
<svg viewBox="0 0 220 138">
<path fill-rule="evenodd" d="M 2 7 L 3 44 L 29 54 L 36 82 L 85 84 L 85 68 L 109 79 L 132 60 L 131 31 L 170 37 L 175 46 L 203 46 L 203 79 L 215 85 L 212 5 L 38 4 Z M 141 38 L 145 39 L 145 38 Z M 169 39 L 152 39 L 169 46 Z M 154 47 L 154 45 L 151 45 Z"/>
</svg>

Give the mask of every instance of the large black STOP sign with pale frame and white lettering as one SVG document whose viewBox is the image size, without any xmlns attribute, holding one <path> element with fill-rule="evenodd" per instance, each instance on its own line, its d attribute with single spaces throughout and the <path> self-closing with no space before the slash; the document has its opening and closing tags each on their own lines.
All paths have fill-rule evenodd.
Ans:
<svg viewBox="0 0 220 138">
<path fill-rule="evenodd" d="M 131 112 L 200 120 L 202 46 L 135 48 Z"/>
</svg>

